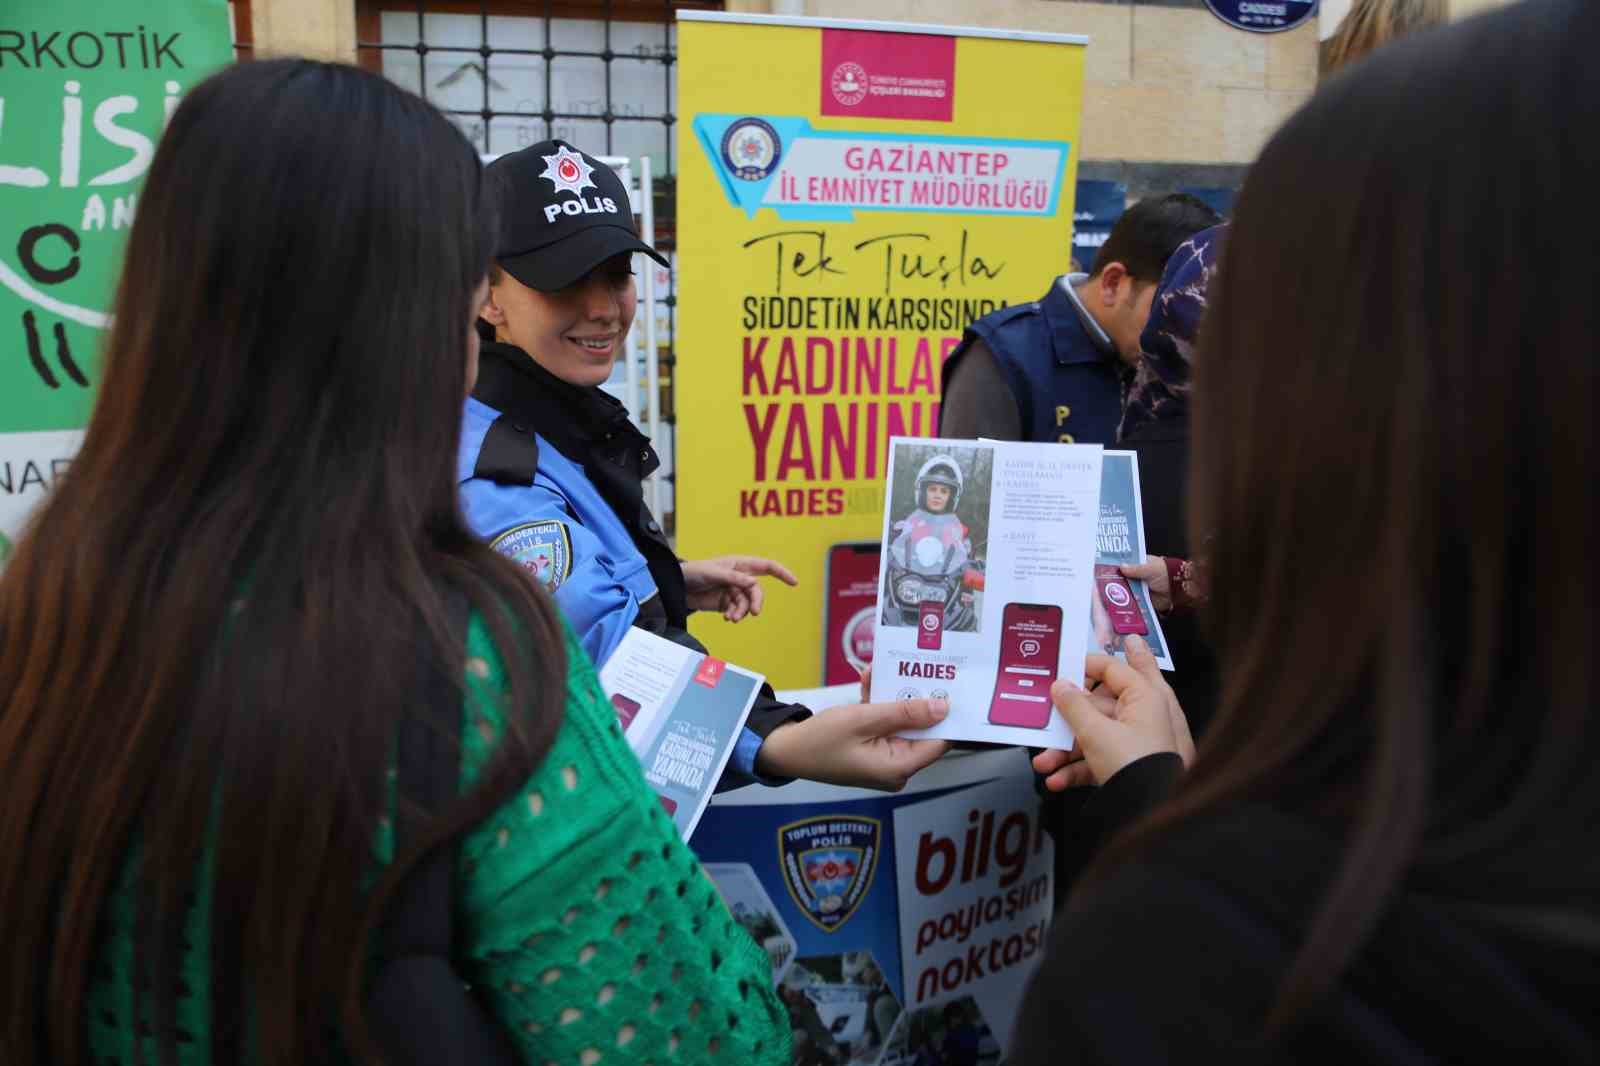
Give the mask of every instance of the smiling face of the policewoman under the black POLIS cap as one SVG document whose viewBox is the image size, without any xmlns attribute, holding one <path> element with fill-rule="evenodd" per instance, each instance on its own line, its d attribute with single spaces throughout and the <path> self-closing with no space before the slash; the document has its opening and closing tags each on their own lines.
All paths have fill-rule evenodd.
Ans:
<svg viewBox="0 0 1600 1066">
<path fill-rule="evenodd" d="M 597 386 L 622 354 L 635 306 L 632 256 L 619 254 L 554 293 L 499 272 L 482 315 L 496 339 L 528 352 L 562 381 Z"/>
</svg>

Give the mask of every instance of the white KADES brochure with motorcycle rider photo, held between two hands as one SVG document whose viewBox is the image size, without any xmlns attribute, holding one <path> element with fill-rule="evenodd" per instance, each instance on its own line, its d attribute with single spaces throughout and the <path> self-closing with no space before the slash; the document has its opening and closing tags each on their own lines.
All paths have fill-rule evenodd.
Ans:
<svg viewBox="0 0 1600 1066">
<path fill-rule="evenodd" d="M 950 701 L 907 736 L 1072 746 L 1099 495 L 1099 445 L 890 440 L 872 698 Z"/>
</svg>

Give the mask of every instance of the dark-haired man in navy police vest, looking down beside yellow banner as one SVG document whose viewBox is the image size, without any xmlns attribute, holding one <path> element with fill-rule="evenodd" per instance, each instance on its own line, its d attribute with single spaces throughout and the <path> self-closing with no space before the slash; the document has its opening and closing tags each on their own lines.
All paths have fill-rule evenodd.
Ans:
<svg viewBox="0 0 1600 1066">
<path fill-rule="evenodd" d="M 941 437 L 1117 442 L 1123 386 L 1139 363 L 1166 259 L 1222 218 L 1187 194 L 1123 211 L 1088 274 L 1058 277 L 1030 304 L 966 328 L 944 363 Z"/>
</svg>

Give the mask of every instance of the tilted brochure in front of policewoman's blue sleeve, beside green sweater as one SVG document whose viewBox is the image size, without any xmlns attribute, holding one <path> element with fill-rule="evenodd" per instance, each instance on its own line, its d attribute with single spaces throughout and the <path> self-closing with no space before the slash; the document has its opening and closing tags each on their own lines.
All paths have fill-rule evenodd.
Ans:
<svg viewBox="0 0 1600 1066">
<path fill-rule="evenodd" d="M 600 671 L 627 746 L 688 840 L 717 789 L 762 677 L 629 627 Z"/>
</svg>

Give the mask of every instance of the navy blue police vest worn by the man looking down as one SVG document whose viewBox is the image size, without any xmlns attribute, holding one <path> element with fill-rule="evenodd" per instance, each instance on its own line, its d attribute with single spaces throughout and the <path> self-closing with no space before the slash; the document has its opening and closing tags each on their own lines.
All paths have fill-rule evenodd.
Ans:
<svg viewBox="0 0 1600 1066">
<path fill-rule="evenodd" d="M 1126 370 L 1099 327 L 1085 323 L 1069 285 L 1083 275 L 1056 279 L 1040 299 L 1002 307 L 966 328 L 944 363 L 944 387 L 982 341 L 1016 399 L 1021 440 L 1040 443 L 1117 442 Z"/>
</svg>

